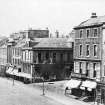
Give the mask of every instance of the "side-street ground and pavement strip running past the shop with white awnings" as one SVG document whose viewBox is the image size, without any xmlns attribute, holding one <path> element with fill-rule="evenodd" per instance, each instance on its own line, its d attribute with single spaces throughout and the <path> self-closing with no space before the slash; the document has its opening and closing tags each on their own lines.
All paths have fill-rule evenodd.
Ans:
<svg viewBox="0 0 105 105">
<path fill-rule="evenodd" d="M 77 100 L 77 97 L 74 95 L 70 95 L 69 93 L 65 95 L 65 84 L 67 83 L 68 80 L 63 80 L 63 81 L 55 81 L 55 82 L 45 82 L 44 83 L 44 90 L 45 90 L 45 95 L 62 102 L 64 105 L 70 105 L 70 101 L 72 104 L 76 105 L 94 105 L 94 102 L 84 102 Z M 33 83 L 29 84 L 29 86 L 38 88 L 42 91 L 43 93 L 43 83 Z M 59 100 L 60 99 L 60 100 Z M 62 99 L 62 100 L 61 100 Z"/>
</svg>

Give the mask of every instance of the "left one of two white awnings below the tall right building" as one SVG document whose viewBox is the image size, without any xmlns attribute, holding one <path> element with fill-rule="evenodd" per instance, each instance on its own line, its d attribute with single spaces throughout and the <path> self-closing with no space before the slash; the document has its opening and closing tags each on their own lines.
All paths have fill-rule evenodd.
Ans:
<svg viewBox="0 0 105 105">
<path fill-rule="evenodd" d="M 67 82 L 66 87 L 68 89 L 77 88 L 81 84 L 80 80 L 71 79 Z"/>
</svg>

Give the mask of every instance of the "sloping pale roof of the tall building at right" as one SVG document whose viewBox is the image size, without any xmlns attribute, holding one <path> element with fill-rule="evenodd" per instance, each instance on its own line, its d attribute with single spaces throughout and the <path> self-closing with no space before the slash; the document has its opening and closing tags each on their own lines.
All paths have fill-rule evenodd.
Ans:
<svg viewBox="0 0 105 105">
<path fill-rule="evenodd" d="M 98 16 L 96 18 L 90 18 L 82 22 L 80 25 L 74 27 L 74 29 L 81 28 L 81 27 L 94 26 L 94 25 L 102 25 L 103 23 L 105 23 L 105 16 Z"/>
</svg>

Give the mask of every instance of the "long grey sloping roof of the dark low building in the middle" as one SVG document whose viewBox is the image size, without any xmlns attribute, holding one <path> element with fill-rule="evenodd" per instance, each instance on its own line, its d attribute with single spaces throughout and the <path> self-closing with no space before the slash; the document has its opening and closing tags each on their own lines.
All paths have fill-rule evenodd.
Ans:
<svg viewBox="0 0 105 105">
<path fill-rule="evenodd" d="M 40 38 L 34 48 L 72 48 L 72 38 Z"/>
</svg>

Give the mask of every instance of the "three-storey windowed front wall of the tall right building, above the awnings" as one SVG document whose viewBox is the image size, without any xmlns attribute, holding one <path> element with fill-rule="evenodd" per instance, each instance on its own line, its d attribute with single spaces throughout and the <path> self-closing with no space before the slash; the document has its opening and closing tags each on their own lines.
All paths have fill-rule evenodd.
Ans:
<svg viewBox="0 0 105 105">
<path fill-rule="evenodd" d="M 94 29 L 97 30 L 96 36 Z M 74 72 L 86 74 L 90 79 L 100 79 L 102 28 L 94 26 L 75 31 Z"/>
</svg>

